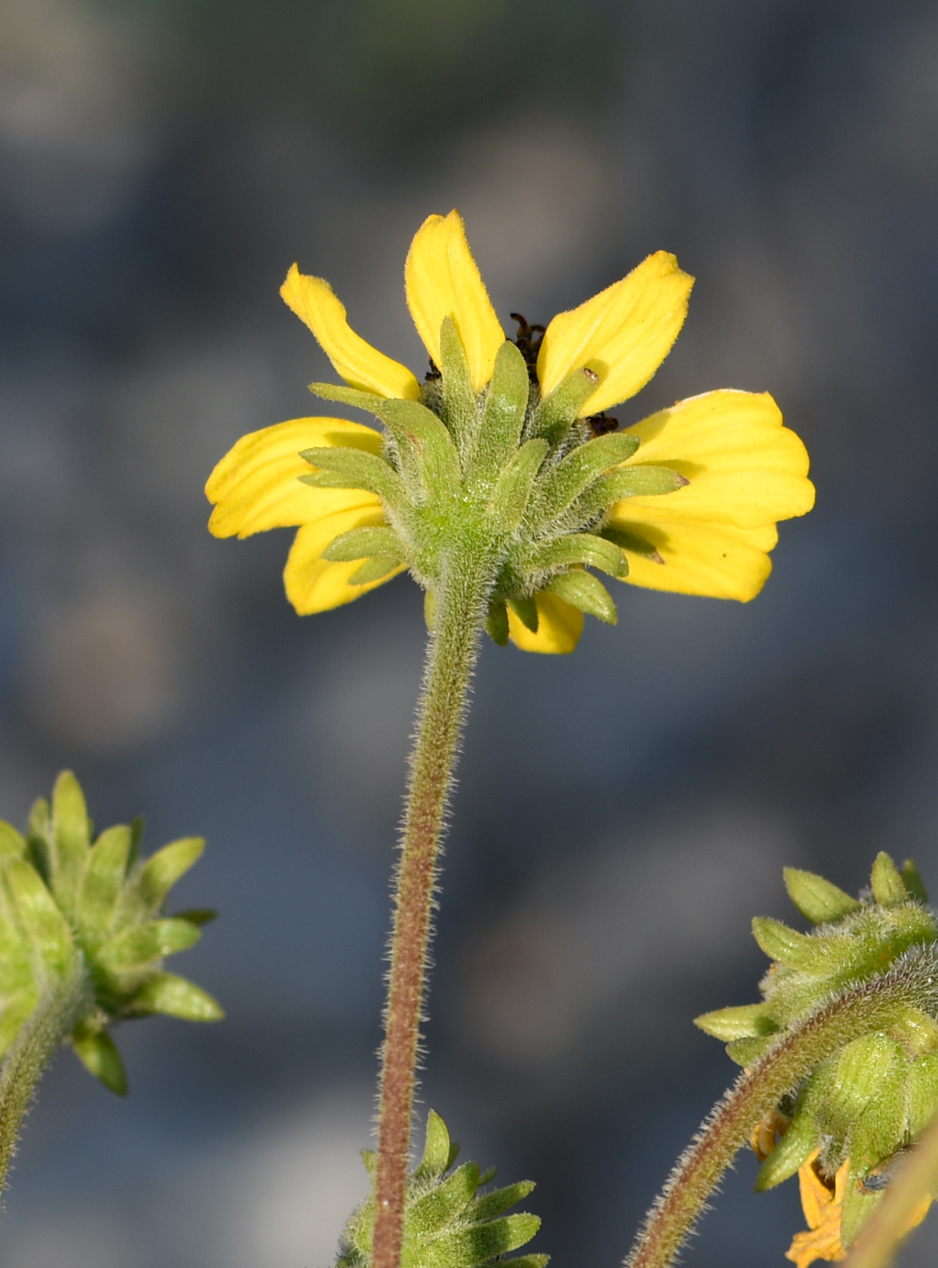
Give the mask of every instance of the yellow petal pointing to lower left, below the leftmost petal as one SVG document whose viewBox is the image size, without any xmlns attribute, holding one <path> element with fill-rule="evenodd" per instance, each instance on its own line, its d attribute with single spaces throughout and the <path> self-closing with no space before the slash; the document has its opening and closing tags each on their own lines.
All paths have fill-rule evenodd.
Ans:
<svg viewBox="0 0 938 1268">
<path fill-rule="evenodd" d="M 369 590 L 383 586 L 385 581 L 390 581 L 392 577 L 403 572 L 404 564 L 401 564 L 380 581 L 371 581 L 364 586 L 350 586 L 349 577 L 357 572 L 363 560 L 330 563 L 322 558 L 322 552 L 340 533 L 347 533 L 350 529 L 380 527 L 384 524 L 387 520 L 380 507 L 371 506 L 336 511 L 335 515 L 323 516 L 314 524 L 303 525 L 294 538 L 284 568 L 286 597 L 300 616 L 326 612 L 331 607 L 351 604 L 352 600 L 360 598 Z"/>
</svg>

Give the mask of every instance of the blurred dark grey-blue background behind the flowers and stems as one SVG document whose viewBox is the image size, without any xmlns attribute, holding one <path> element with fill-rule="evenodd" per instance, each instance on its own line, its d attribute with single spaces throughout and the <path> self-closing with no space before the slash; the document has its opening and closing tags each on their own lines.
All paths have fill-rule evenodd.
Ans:
<svg viewBox="0 0 938 1268">
<path fill-rule="evenodd" d="M 616 412 L 769 389 L 819 492 L 749 606 L 622 587 L 572 657 L 485 647 L 423 1104 L 539 1182 L 535 1249 L 612 1265 L 734 1074 L 691 1018 L 755 998 L 782 865 L 938 890 L 934 4 L 0 0 L 0 815 L 67 765 L 100 825 L 204 833 L 177 964 L 228 1009 L 119 1031 L 127 1102 L 62 1055 L 3 1268 L 326 1268 L 364 1193 L 421 596 L 300 620 L 289 534 L 212 539 L 202 489 L 332 377 L 293 260 L 422 370 L 403 259 L 454 205 L 508 328 L 674 251 L 690 318 Z M 688 1263 L 785 1263 L 754 1172 Z"/>
</svg>

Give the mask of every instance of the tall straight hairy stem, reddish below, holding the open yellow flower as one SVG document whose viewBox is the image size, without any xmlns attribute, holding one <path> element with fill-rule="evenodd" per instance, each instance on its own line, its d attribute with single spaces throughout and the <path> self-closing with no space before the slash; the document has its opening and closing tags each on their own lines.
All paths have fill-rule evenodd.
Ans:
<svg viewBox="0 0 938 1268">
<path fill-rule="evenodd" d="M 469 552 L 436 596 L 395 875 L 382 1047 L 373 1268 L 398 1268 L 437 856 L 491 579 Z"/>
</svg>

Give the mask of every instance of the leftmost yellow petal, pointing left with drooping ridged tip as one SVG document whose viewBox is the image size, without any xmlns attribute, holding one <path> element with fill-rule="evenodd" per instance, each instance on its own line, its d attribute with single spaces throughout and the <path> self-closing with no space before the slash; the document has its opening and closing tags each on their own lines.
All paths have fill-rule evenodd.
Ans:
<svg viewBox="0 0 938 1268">
<path fill-rule="evenodd" d="M 217 538 L 246 538 L 290 527 L 347 507 L 380 506 L 357 488 L 311 488 L 299 482 L 311 467 L 303 449 L 347 445 L 382 451 L 380 432 L 345 418 L 292 418 L 242 436 L 208 478 L 205 496 L 217 506 L 209 530 Z"/>
</svg>

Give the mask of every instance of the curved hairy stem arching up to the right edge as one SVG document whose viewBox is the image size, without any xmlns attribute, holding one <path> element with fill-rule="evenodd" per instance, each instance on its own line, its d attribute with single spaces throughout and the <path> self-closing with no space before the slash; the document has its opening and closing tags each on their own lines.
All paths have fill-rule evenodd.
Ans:
<svg viewBox="0 0 938 1268">
<path fill-rule="evenodd" d="M 668 1268 L 755 1123 L 845 1044 L 887 1030 L 910 1006 L 933 1013 L 934 974 L 930 948 L 908 954 L 891 973 L 844 992 L 787 1031 L 757 1065 L 744 1070 L 678 1160 L 624 1268 Z"/>
</svg>

